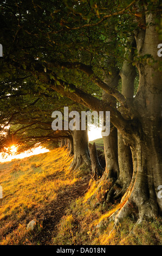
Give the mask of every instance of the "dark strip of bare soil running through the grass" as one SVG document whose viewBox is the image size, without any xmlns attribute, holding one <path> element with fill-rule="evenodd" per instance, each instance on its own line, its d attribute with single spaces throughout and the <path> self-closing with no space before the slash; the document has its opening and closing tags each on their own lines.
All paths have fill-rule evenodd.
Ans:
<svg viewBox="0 0 162 256">
<path fill-rule="evenodd" d="M 83 196 L 89 185 L 90 176 L 76 181 L 74 185 L 67 186 L 64 191 L 57 194 L 56 200 L 50 203 L 36 214 L 36 220 L 42 223 L 42 230 L 35 236 L 40 245 L 51 245 L 51 239 L 57 232 L 57 225 L 66 215 L 68 206 L 77 198 Z"/>
</svg>

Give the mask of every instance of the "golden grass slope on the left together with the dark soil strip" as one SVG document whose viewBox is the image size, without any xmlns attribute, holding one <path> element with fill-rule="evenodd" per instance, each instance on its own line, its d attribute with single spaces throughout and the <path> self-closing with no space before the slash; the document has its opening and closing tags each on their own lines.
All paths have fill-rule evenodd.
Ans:
<svg viewBox="0 0 162 256">
<path fill-rule="evenodd" d="M 1 245 L 47 245 L 69 204 L 81 197 L 89 176 L 70 173 L 72 158 L 66 149 L 0 164 Z M 27 224 L 36 227 L 27 231 Z"/>
</svg>

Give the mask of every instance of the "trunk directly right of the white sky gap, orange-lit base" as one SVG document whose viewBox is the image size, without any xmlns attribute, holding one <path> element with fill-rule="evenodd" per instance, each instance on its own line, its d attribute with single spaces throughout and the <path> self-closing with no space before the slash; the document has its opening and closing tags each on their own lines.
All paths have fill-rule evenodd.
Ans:
<svg viewBox="0 0 162 256">
<path fill-rule="evenodd" d="M 115 66 L 112 65 L 112 75 L 105 76 L 105 82 L 108 83 L 108 85 L 112 88 L 118 86 L 119 72 L 115 68 Z M 106 102 L 109 105 L 116 107 L 115 98 L 107 94 L 104 90 L 102 91 L 102 100 L 103 102 Z M 107 202 L 109 202 L 112 199 L 113 195 L 110 190 L 119 176 L 118 134 L 117 129 L 112 125 L 112 123 L 110 134 L 108 136 L 103 136 L 102 138 L 104 144 L 106 168 L 101 179 L 98 181 L 98 189 L 96 190 L 95 194 L 93 194 L 92 198 L 99 197 L 96 196 L 96 194 L 100 194 L 100 200 L 106 200 Z"/>
</svg>

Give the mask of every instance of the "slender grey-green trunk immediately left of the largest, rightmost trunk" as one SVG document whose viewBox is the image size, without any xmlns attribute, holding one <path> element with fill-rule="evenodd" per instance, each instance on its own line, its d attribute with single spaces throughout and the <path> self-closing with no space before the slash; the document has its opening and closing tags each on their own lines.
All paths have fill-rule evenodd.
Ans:
<svg viewBox="0 0 162 256">
<path fill-rule="evenodd" d="M 125 47 L 125 61 L 120 72 L 122 89 L 121 93 L 127 99 L 133 99 L 134 95 L 134 79 L 136 74 L 135 66 L 132 65 L 134 58 L 134 47 L 136 46 L 134 36 L 129 36 L 127 40 L 127 47 Z M 120 112 L 127 119 L 127 113 L 120 107 Z M 118 162 L 119 162 L 119 178 L 116 181 L 116 185 L 121 188 L 119 191 L 115 191 L 114 199 L 119 196 L 122 197 L 126 192 L 129 184 L 131 183 L 133 174 L 133 162 L 132 153 L 129 145 L 124 143 L 120 132 L 118 131 Z"/>
</svg>

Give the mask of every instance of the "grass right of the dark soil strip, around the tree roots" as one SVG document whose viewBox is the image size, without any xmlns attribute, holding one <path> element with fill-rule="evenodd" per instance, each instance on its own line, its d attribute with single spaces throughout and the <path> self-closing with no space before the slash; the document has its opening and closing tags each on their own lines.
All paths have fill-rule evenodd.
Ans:
<svg viewBox="0 0 162 256">
<path fill-rule="evenodd" d="M 106 210 L 104 203 L 98 201 L 98 185 L 99 182 L 91 180 L 85 196 L 67 210 L 53 245 L 162 245 L 161 218 L 136 226 L 136 220 L 127 217 L 114 228 L 114 221 L 109 217 L 125 202 L 111 205 Z"/>
</svg>

